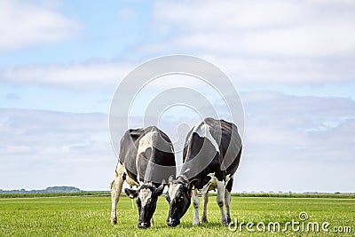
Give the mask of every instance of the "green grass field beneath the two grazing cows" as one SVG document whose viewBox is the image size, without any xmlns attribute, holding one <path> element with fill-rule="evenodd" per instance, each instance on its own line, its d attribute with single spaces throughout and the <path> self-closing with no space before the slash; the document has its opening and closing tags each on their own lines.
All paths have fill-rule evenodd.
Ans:
<svg viewBox="0 0 355 237">
<path fill-rule="evenodd" d="M 135 203 L 134 203 L 135 204 Z M 155 225 L 149 229 L 137 228 L 138 209 L 132 209 L 131 201 L 122 197 L 117 209 L 117 225 L 109 223 L 110 197 L 39 197 L 0 199 L 0 236 L 250 236 L 246 225 L 242 230 L 230 231 L 219 223 L 216 197 L 210 197 L 209 224 L 193 226 L 193 209 L 190 207 L 181 225 L 170 228 L 165 225 L 168 203 L 164 197 L 158 201 L 154 214 Z M 294 232 L 291 225 L 282 233 L 287 222 L 300 221 L 299 213 L 308 214 L 308 222 L 328 222 L 329 231 L 347 226 L 351 233 Z M 355 234 L 355 200 L 331 198 L 271 198 L 233 197 L 232 219 L 253 222 L 251 227 L 257 236 L 353 236 Z M 256 224 L 264 222 L 265 232 L 258 232 Z M 280 232 L 269 232 L 270 222 L 280 223 Z M 232 225 L 233 227 L 234 225 Z M 271 226 L 272 227 L 272 226 Z M 299 224 L 302 230 L 302 222 Z M 263 225 L 259 225 L 263 229 Z M 305 229 L 304 229 L 305 230 Z M 346 230 L 348 231 L 348 230 Z"/>
</svg>

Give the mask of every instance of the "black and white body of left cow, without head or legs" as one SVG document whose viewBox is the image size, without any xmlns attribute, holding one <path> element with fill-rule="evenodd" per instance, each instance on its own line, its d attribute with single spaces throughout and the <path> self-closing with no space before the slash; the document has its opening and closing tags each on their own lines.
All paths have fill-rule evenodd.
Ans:
<svg viewBox="0 0 355 237">
<path fill-rule="evenodd" d="M 127 130 L 121 139 L 119 159 L 130 178 L 159 186 L 162 179 L 176 175 L 172 147 L 170 138 L 154 126 Z"/>
</svg>

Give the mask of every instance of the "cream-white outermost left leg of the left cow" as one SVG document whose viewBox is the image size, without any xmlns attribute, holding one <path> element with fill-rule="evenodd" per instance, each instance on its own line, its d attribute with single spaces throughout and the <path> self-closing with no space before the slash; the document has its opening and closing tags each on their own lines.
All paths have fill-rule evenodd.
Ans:
<svg viewBox="0 0 355 237">
<path fill-rule="evenodd" d="M 116 208 L 117 202 L 120 199 L 120 194 L 122 191 L 122 186 L 124 182 L 124 173 L 123 173 L 123 166 L 122 164 L 118 164 L 116 168 L 116 174 L 114 177 L 114 181 L 111 183 L 111 223 L 117 223 L 117 216 L 116 216 Z"/>
</svg>

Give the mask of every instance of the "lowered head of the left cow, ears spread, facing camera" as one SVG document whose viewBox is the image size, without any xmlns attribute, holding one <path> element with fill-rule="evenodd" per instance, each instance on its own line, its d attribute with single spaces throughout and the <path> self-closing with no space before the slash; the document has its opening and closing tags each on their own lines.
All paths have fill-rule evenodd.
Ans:
<svg viewBox="0 0 355 237">
<path fill-rule="evenodd" d="M 131 199 L 137 198 L 137 206 L 139 212 L 138 228 L 150 227 L 150 221 L 156 209 L 156 201 L 162 195 L 164 184 L 155 187 L 152 183 L 144 184 L 139 189 L 124 189 L 124 193 Z"/>
</svg>

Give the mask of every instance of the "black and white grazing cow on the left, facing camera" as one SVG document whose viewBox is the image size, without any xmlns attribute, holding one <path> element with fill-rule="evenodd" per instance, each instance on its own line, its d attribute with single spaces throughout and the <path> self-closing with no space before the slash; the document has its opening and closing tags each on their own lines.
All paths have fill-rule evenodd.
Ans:
<svg viewBox="0 0 355 237">
<path fill-rule="evenodd" d="M 152 126 L 146 129 L 127 130 L 121 139 L 119 162 L 111 183 L 111 222 L 116 224 L 116 207 L 123 182 L 130 187 L 125 193 L 137 197 L 139 212 L 138 227 L 150 227 L 158 196 L 162 194 L 165 181 L 176 175 L 174 149 L 170 138 Z"/>
</svg>

